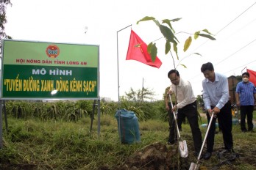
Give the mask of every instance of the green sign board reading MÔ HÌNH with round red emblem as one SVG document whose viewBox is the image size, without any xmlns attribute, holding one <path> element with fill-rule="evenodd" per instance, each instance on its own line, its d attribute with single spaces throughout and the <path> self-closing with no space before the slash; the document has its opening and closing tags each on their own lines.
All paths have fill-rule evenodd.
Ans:
<svg viewBox="0 0 256 170">
<path fill-rule="evenodd" d="M 2 44 L 1 98 L 99 99 L 99 45 Z"/>
</svg>

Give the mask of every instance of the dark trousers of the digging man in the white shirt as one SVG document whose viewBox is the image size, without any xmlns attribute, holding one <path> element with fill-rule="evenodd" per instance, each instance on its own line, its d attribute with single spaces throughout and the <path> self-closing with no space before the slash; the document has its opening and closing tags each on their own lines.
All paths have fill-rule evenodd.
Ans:
<svg viewBox="0 0 256 170">
<path fill-rule="evenodd" d="M 200 152 L 200 149 L 202 146 L 202 133 L 198 124 L 196 101 L 187 106 L 184 106 L 183 108 L 178 109 L 178 114 L 177 114 L 178 127 L 181 127 L 185 117 L 187 117 L 188 123 L 191 126 L 191 131 L 193 136 L 193 146 L 195 148 L 195 151 Z M 171 132 L 174 133 L 174 130 L 175 130 L 175 125 L 171 127 L 170 133 Z"/>
</svg>

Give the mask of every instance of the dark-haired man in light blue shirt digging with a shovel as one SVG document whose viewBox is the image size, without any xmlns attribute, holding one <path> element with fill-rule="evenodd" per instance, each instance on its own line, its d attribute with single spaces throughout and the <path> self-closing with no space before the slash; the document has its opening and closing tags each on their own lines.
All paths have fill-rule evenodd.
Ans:
<svg viewBox="0 0 256 170">
<path fill-rule="evenodd" d="M 208 123 L 210 122 L 211 115 L 214 114 L 207 136 L 207 152 L 204 154 L 204 158 L 207 160 L 211 157 L 213 152 L 217 118 L 218 124 L 221 125 L 224 149 L 226 149 L 227 152 L 234 152 L 232 112 L 227 77 L 215 73 L 213 64 L 210 62 L 202 64 L 201 72 L 205 76 L 205 79 L 202 81 L 202 87 Z"/>
</svg>

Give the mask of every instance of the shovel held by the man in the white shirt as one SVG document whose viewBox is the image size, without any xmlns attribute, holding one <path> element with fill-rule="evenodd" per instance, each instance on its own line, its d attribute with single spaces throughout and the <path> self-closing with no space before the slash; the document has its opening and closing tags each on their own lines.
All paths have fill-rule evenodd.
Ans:
<svg viewBox="0 0 256 170">
<path fill-rule="evenodd" d="M 171 95 L 169 95 L 170 97 L 170 101 L 171 101 Z M 171 101 L 171 108 L 174 108 L 172 101 Z M 179 141 L 179 154 L 182 158 L 187 158 L 188 157 L 188 147 L 187 147 L 187 142 L 185 140 L 182 140 L 182 138 L 180 137 L 179 134 L 179 127 L 178 127 L 178 123 L 177 123 L 177 117 L 175 112 L 173 112 L 174 114 L 174 121 L 177 127 L 177 135 L 178 135 L 178 141 Z"/>
</svg>

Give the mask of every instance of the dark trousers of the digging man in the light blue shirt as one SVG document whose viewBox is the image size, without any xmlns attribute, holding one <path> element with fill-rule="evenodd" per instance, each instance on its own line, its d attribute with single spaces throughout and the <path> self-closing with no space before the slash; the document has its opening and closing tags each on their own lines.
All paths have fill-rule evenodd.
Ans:
<svg viewBox="0 0 256 170">
<path fill-rule="evenodd" d="M 214 108 L 214 107 L 212 107 Z M 228 101 L 221 111 L 217 114 L 218 125 L 221 125 L 222 137 L 224 141 L 225 149 L 233 148 L 233 138 L 232 138 L 232 113 L 231 113 L 231 103 Z M 210 115 L 207 113 L 208 123 L 210 122 Z M 216 118 L 213 117 L 213 122 L 210 125 L 210 130 L 207 136 L 207 152 L 213 152 L 214 136 L 216 130 Z"/>
</svg>

